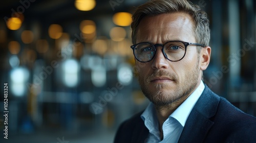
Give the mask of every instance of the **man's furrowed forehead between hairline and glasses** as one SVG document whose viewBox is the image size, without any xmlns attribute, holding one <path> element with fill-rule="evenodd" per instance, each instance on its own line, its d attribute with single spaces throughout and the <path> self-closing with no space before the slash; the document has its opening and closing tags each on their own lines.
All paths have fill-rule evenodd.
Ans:
<svg viewBox="0 0 256 143">
<path fill-rule="evenodd" d="M 139 23 L 137 41 L 194 41 L 194 27 L 192 16 L 185 12 L 146 16 Z"/>
</svg>

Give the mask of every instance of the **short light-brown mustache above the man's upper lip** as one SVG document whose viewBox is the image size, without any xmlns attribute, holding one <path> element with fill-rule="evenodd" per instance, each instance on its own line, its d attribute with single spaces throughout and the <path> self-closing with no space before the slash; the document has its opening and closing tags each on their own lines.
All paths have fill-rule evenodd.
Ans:
<svg viewBox="0 0 256 143">
<path fill-rule="evenodd" d="M 162 69 L 154 70 L 154 72 L 146 78 L 146 82 L 150 82 L 150 81 L 152 81 L 152 79 L 154 79 L 156 77 L 166 77 L 166 78 L 173 80 L 174 82 L 178 82 L 178 78 L 176 75 L 169 73 L 168 71 L 162 70 Z"/>
</svg>

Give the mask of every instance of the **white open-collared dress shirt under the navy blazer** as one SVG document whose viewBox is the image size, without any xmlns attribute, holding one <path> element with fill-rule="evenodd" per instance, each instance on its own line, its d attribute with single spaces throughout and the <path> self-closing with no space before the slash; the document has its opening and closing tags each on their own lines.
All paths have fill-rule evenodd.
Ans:
<svg viewBox="0 0 256 143">
<path fill-rule="evenodd" d="M 200 98 L 205 86 L 201 81 L 198 88 L 163 123 L 163 140 L 160 138 L 155 106 L 150 103 L 141 114 L 146 128 L 150 131 L 145 142 L 178 142 L 187 117 Z"/>
</svg>

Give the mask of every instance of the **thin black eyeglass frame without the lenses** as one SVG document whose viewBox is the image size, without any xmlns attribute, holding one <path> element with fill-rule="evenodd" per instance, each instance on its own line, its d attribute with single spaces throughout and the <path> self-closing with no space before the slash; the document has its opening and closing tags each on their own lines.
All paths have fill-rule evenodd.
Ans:
<svg viewBox="0 0 256 143">
<path fill-rule="evenodd" d="M 164 50 L 163 50 L 163 47 L 164 47 L 168 42 L 181 42 L 181 43 L 184 44 L 184 46 L 185 46 L 185 53 L 184 53 L 184 55 L 183 55 L 183 57 L 182 57 L 181 59 L 176 60 L 176 61 L 173 61 L 173 60 L 168 59 L 167 55 L 165 54 L 165 52 L 164 52 Z M 148 60 L 148 61 L 140 61 L 140 60 L 135 56 L 135 47 L 136 47 L 138 44 L 143 44 L 143 43 L 145 43 L 145 44 L 151 44 L 151 45 L 154 47 L 154 49 L 155 49 L 155 54 L 154 54 L 153 57 L 152 57 L 150 60 Z M 140 42 L 140 43 L 131 45 L 131 48 L 133 49 L 133 55 L 134 55 L 134 57 L 135 57 L 139 62 L 150 62 L 150 61 L 152 61 L 152 60 L 154 59 L 155 55 L 156 55 L 156 52 L 157 52 L 156 47 L 157 47 L 157 46 L 162 46 L 162 53 L 163 53 L 164 57 L 165 57 L 167 60 L 172 61 L 172 62 L 177 62 L 177 61 L 182 60 L 182 59 L 185 57 L 186 51 L 187 51 L 187 46 L 188 46 L 188 45 L 197 45 L 197 46 L 205 47 L 205 45 L 199 44 L 199 43 L 190 43 L 190 42 L 184 42 L 184 41 L 175 40 L 175 41 L 167 41 L 167 42 L 165 42 L 164 44 L 159 44 L 159 43 L 153 44 L 153 43 L 150 43 L 150 42 Z"/>
</svg>

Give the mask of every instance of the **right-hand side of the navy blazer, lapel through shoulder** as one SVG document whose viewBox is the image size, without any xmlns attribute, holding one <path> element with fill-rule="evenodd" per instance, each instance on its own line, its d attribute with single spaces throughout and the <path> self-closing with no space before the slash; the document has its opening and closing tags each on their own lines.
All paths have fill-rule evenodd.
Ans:
<svg viewBox="0 0 256 143">
<path fill-rule="evenodd" d="M 197 128 L 199 131 L 196 132 Z M 244 113 L 205 86 L 187 119 L 180 142 L 188 135 L 197 141 L 201 136 L 205 142 L 256 142 L 253 132 L 256 132 L 254 116 Z"/>
</svg>

